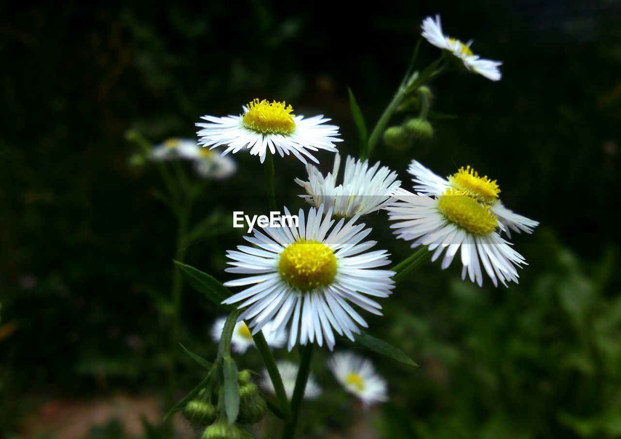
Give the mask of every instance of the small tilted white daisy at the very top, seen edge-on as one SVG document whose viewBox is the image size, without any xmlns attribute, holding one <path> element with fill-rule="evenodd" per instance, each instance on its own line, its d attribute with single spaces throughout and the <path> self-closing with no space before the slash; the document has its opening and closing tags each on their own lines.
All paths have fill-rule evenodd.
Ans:
<svg viewBox="0 0 621 439">
<path fill-rule="evenodd" d="M 485 76 L 492 81 L 501 79 L 501 71 L 498 69 L 502 65 L 501 61 L 485 60 L 480 58 L 479 55 L 474 55 L 472 50 L 470 50 L 472 40 L 464 44 L 456 38 L 444 35 L 439 15 L 435 16 L 435 21 L 433 21 L 432 17 L 424 19 L 422 29 L 422 37 L 426 38 L 435 47 L 451 52 L 463 62 L 463 65 L 469 71 Z"/>
</svg>

